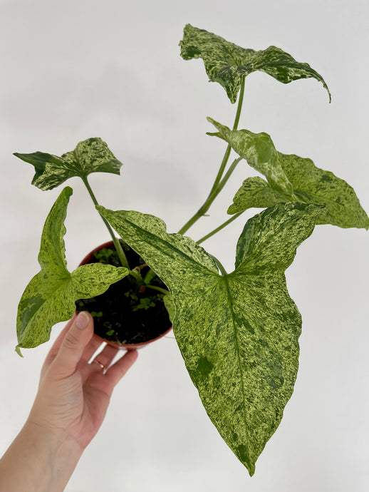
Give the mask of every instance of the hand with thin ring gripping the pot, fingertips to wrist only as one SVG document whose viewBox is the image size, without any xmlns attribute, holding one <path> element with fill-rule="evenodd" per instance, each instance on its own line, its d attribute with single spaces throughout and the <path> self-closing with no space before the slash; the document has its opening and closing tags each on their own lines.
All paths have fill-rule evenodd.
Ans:
<svg viewBox="0 0 369 492">
<path fill-rule="evenodd" d="M 93 337 L 90 314 L 71 319 L 43 364 L 28 424 L 73 439 L 85 449 L 103 422 L 114 386 L 137 359 L 136 350 L 128 351 L 109 368 L 118 349 L 107 345 L 99 362 L 88 364 L 100 343 Z"/>
</svg>

